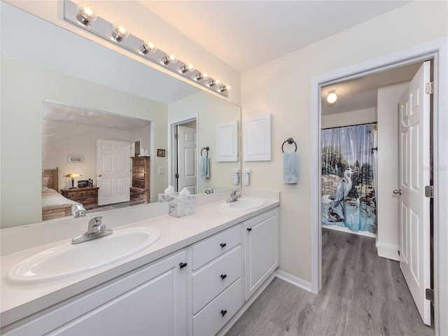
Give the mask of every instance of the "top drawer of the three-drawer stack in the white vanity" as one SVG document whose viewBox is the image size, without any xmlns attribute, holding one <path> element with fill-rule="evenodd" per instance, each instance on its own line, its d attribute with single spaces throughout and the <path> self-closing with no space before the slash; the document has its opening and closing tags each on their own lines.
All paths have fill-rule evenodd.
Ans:
<svg viewBox="0 0 448 336">
<path fill-rule="evenodd" d="M 241 225 L 220 232 L 193 245 L 193 270 L 241 244 Z"/>
</svg>

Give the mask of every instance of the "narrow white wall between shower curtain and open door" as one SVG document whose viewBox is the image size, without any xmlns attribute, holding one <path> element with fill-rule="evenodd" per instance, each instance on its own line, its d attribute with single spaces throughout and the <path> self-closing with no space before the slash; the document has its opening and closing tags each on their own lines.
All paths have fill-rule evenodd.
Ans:
<svg viewBox="0 0 448 336">
<path fill-rule="evenodd" d="M 398 102 L 406 87 L 407 83 L 379 87 L 377 94 L 377 251 L 379 256 L 393 260 L 399 260 L 399 197 L 392 193 L 399 188 Z"/>
</svg>

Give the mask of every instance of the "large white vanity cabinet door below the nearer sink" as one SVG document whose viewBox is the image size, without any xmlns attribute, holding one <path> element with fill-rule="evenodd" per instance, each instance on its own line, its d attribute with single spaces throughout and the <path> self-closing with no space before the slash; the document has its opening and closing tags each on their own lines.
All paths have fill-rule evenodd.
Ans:
<svg viewBox="0 0 448 336">
<path fill-rule="evenodd" d="M 186 335 L 186 251 L 78 295 L 6 335 Z"/>
</svg>

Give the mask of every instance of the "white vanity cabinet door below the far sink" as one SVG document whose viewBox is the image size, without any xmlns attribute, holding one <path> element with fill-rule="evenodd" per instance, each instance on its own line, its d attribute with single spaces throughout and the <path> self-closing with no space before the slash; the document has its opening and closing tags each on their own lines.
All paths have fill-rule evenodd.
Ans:
<svg viewBox="0 0 448 336">
<path fill-rule="evenodd" d="M 244 223 L 244 300 L 279 266 L 278 210 Z"/>
</svg>

